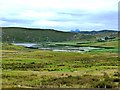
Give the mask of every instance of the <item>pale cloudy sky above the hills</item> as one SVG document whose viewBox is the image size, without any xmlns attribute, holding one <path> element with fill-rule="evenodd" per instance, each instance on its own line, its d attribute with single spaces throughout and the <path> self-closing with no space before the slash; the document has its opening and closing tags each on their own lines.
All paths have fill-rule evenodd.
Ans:
<svg viewBox="0 0 120 90">
<path fill-rule="evenodd" d="M 119 0 L 0 0 L 0 25 L 70 31 L 118 29 Z"/>
</svg>

